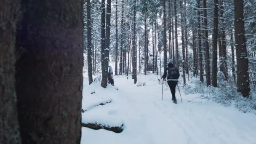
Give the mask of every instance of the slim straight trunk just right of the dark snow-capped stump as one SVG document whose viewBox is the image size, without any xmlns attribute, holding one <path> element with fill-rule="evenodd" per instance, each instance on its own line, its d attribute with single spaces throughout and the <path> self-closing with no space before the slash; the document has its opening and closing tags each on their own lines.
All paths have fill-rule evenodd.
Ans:
<svg viewBox="0 0 256 144">
<path fill-rule="evenodd" d="M 115 0 L 115 75 L 117 72 L 117 59 L 118 59 L 118 29 L 117 29 L 117 0 Z"/>
</svg>

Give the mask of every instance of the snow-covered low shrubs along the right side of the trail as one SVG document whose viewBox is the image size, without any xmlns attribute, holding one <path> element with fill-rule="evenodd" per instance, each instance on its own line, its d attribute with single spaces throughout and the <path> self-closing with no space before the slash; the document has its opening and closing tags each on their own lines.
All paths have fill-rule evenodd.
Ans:
<svg viewBox="0 0 256 144">
<path fill-rule="evenodd" d="M 219 74 L 219 79 L 221 74 Z M 220 103 L 224 106 L 235 106 L 243 112 L 254 112 L 256 114 L 256 93 L 251 91 L 250 98 L 244 98 L 237 92 L 237 88 L 232 83 L 218 81 L 219 88 L 213 86 L 206 87 L 206 83 L 201 83 L 199 80 L 194 80 L 184 86 L 186 94 L 200 93 L 201 99 L 208 99 Z"/>
</svg>

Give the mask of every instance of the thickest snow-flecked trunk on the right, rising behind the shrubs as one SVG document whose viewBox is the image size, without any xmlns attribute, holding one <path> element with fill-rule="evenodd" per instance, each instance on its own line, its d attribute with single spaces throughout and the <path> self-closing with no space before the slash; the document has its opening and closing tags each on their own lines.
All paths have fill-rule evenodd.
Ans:
<svg viewBox="0 0 256 144">
<path fill-rule="evenodd" d="M 245 24 L 243 17 L 243 0 L 234 0 L 235 3 L 235 45 L 237 57 L 237 91 L 244 97 L 250 93 L 248 58 L 245 40 Z"/>
</svg>

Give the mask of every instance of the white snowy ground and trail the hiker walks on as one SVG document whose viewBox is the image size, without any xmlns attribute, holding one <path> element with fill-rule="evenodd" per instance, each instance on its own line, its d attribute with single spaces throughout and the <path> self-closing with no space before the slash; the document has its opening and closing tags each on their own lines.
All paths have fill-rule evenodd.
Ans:
<svg viewBox="0 0 256 144">
<path fill-rule="evenodd" d="M 115 77 L 118 91 L 84 85 L 83 107 L 96 97 L 111 98 L 112 103 L 93 108 L 91 113 L 122 118 L 125 128 L 122 133 L 82 128 L 81 144 L 256 144 L 255 114 L 200 99 L 189 103 L 197 95 L 183 91 L 181 104 L 178 90 L 178 104 L 173 104 L 167 86 L 162 101 L 162 85 L 155 75 L 139 75 L 139 80 L 146 85 L 136 87 L 131 78 Z M 96 93 L 91 95 L 88 89 Z"/>
</svg>

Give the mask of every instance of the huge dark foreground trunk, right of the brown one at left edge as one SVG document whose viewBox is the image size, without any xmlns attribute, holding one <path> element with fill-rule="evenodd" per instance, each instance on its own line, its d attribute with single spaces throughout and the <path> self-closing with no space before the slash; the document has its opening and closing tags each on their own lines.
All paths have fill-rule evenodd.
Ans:
<svg viewBox="0 0 256 144">
<path fill-rule="evenodd" d="M 17 29 L 18 117 L 23 144 L 80 144 L 81 0 L 23 0 Z"/>
</svg>

